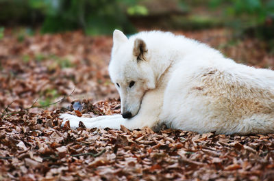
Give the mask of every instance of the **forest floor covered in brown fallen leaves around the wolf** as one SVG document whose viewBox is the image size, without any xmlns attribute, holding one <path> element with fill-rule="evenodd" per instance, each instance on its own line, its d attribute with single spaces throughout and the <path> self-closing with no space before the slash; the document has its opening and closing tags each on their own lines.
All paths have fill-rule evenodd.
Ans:
<svg viewBox="0 0 274 181">
<path fill-rule="evenodd" d="M 61 127 L 64 112 L 120 113 L 108 76 L 112 37 L 20 32 L 8 29 L 0 40 L 0 180 L 274 180 L 274 134 Z M 174 33 L 274 68 L 256 38 L 225 29 Z"/>
</svg>

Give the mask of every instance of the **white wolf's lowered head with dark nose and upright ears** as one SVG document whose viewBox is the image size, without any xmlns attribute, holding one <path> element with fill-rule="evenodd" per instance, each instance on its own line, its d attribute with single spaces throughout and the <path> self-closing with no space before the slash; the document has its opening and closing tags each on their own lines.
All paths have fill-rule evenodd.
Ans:
<svg viewBox="0 0 274 181">
<path fill-rule="evenodd" d="M 155 88 L 155 76 L 149 65 L 150 53 L 144 40 L 127 39 L 122 31 L 113 33 L 109 72 L 121 98 L 124 118 L 134 117 L 148 89 Z"/>
</svg>

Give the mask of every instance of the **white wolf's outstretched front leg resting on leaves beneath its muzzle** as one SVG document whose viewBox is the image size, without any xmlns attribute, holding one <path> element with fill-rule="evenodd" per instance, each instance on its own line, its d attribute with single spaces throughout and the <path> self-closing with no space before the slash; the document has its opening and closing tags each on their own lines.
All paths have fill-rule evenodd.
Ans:
<svg viewBox="0 0 274 181">
<path fill-rule="evenodd" d="M 75 115 L 62 114 L 60 118 L 64 121 L 69 120 L 71 128 L 77 128 L 79 122 L 83 122 L 87 128 L 114 128 L 119 129 L 120 125 L 128 129 L 142 128 L 144 126 L 153 127 L 159 121 L 162 111 L 163 92 L 158 89 L 148 91 L 142 98 L 142 104 L 137 115 L 130 119 L 124 119 L 122 115 L 103 115 L 94 118 L 77 117 Z M 65 122 L 62 122 L 64 126 Z"/>
</svg>

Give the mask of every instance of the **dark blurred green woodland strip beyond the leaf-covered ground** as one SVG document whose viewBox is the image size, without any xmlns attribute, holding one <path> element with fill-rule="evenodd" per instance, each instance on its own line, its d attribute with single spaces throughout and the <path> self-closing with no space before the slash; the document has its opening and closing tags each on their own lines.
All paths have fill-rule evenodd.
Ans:
<svg viewBox="0 0 274 181">
<path fill-rule="evenodd" d="M 228 27 L 273 38 L 273 0 L 1 0 L 1 31 L 25 26 L 28 33 L 82 29 L 87 35 L 113 29 L 197 30 Z M 273 43 L 273 42 L 272 42 Z"/>
</svg>

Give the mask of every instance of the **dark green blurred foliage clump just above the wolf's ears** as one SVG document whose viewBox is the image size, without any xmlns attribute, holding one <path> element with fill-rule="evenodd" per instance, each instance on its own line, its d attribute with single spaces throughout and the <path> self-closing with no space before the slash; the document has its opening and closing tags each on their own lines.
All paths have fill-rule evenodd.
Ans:
<svg viewBox="0 0 274 181">
<path fill-rule="evenodd" d="M 135 4 L 127 0 L 123 4 Z M 32 8 L 40 10 L 45 20 L 42 33 L 55 33 L 82 28 L 87 34 L 110 34 L 113 29 L 132 33 L 134 27 L 127 20 L 127 14 L 119 0 L 29 0 Z M 137 8 L 136 13 L 145 10 Z M 135 9 L 134 9 L 135 10 Z"/>
</svg>

